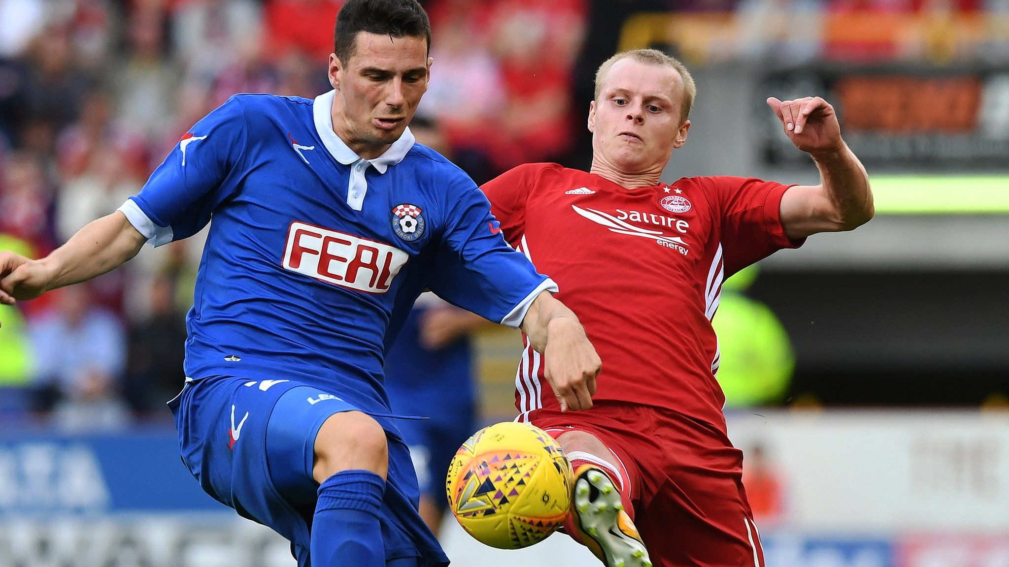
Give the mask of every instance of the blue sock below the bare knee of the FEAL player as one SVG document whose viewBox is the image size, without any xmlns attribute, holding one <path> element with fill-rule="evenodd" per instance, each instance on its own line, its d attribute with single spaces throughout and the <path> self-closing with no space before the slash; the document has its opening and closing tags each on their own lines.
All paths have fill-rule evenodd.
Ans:
<svg viewBox="0 0 1009 567">
<path fill-rule="evenodd" d="M 312 521 L 313 567 L 384 567 L 378 511 L 385 481 L 369 470 L 344 470 L 319 486 Z"/>
</svg>

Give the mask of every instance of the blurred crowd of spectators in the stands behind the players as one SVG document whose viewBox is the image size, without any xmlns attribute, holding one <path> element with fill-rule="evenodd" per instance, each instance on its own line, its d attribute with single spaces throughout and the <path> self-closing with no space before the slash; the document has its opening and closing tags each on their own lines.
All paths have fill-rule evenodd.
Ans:
<svg viewBox="0 0 1009 567">
<path fill-rule="evenodd" d="M 821 27 L 803 14 L 1009 14 L 1007 0 L 422 3 L 435 65 L 415 129 L 477 183 L 528 161 L 585 164 L 592 76 L 637 12 L 744 15 L 733 29 L 765 38 L 777 33 L 767 14 L 787 14 L 794 21 L 781 37 L 760 44 L 820 55 L 820 31 L 811 30 Z M 0 0 L 0 249 L 39 257 L 113 212 L 234 93 L 328 90 L 340 5 Z M 166 419 L 163 402 L 183 383 L 184 314 L 201 249 L 199 237 L 146 248 L 88 285 L 0 306 L 0 421 L 115 428 L 137 415 Z"/>
</svg>

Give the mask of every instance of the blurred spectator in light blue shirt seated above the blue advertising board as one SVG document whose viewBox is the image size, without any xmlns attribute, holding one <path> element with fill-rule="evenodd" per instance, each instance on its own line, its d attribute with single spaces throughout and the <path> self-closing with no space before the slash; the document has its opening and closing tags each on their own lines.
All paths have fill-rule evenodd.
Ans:
<svg viewBox="0 0 1009 567">
<path fill-rule="evenodd" d="M 34 383 L 57 425 L 111 429 L 126 423 L 119 396 L 126 337 L 116 317 L 95 306 L 88 285 L 63 288 L 57 307 L 29 324 Z"/>
</svg>

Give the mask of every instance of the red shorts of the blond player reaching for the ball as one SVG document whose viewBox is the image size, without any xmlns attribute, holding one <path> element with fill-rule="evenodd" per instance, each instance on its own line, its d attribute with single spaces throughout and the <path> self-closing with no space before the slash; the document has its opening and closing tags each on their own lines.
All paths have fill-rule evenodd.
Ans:
<svg viewBox="0 0 1009 567">
<path fill-rule="evenodd" d="M 554 437 L 590 433 L 616 455 L 656 566 L 763 567 L 743 452 L 723 433 L 675 412 L 618 402 L 586 412 L 537 410 L 530 418 Z"/>
</svg>

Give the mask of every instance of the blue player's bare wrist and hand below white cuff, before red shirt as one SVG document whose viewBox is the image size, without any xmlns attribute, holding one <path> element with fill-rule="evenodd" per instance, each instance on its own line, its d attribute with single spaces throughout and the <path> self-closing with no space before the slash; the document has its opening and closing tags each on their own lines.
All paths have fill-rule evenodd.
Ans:
<svg viewBox="0 0 1009 567">
<path fill-rule="evenodd" d="M 574 312 L 549 292 L 542 292 L 526 312 L 522 330 L 544 355 L 544 373 L 561 411 L 591 408 L 602 361 Z"/>
</svg>

